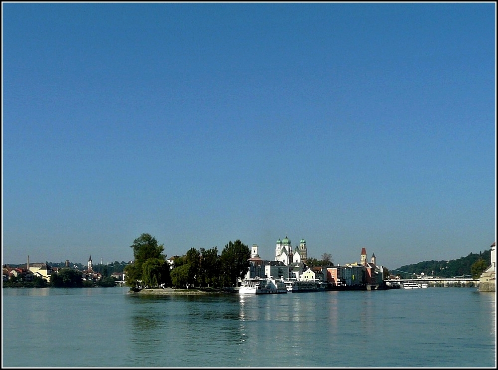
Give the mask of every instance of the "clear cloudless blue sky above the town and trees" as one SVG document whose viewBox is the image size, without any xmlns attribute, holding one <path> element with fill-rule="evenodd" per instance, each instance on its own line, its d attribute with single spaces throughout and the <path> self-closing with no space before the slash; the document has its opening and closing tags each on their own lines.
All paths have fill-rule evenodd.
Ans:
<svg viewBox="0 0 498 370">
<path fill-rule="evenodd" d="M 2 2 L 2 263 L 488 250 L 496 10 Z"/>
</svg>

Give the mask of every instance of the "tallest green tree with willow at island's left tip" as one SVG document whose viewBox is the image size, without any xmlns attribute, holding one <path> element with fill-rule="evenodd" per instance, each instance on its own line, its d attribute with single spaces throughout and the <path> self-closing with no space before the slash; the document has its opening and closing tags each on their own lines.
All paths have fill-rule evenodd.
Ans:
<svg viewBox="0 0 498 370">
<path fill-rule="evenodd" d="M 169 283 L 169 267 L 164 246 L 158 244 L 150 234 L 141 234 L 130 245 L 133 248 L 133 263 L 124 268 L 126 285 L 133 290 L 139 286 L 157 287 Z"/>
</svg>

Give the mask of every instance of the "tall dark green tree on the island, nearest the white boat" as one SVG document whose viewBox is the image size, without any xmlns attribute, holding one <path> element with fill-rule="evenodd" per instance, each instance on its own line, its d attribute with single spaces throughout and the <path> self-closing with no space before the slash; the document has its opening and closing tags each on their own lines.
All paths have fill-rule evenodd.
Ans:
<svg viewBox="0 0 498 370">
<path fill-rule="evenodd" d="M 239 278 L 244 278 L 250 266 L 250 249 L 240 239 L 230 241 L 221 252 L 220 260 L 223 273 L 230 285 L 239 285 Z"/>
</svg>

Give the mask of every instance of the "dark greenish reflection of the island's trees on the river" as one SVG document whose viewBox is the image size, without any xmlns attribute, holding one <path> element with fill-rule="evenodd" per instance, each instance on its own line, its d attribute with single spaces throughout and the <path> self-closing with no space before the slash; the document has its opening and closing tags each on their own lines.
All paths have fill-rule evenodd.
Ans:
<svg viewBox="0 0 498 370">
<path fill-rule="evenodd" d="M 134 366 L 216 367 L 221 348 L 230 352 L 243 341 L 238 295 L 133 298 Z M 157 358 L 161 353 L 169 354 L 167 362 Z"/>
</svg>

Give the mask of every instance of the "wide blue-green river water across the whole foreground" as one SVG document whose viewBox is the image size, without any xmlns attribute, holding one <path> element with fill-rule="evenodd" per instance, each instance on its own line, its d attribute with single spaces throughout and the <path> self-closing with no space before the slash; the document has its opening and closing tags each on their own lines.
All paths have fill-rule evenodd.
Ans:
<svg viewBox="0 0 498 370">
<path fill-rule="evenodd" d="M 239 296 L 2 288 L 2 368 L 496 368 L 476 288 Z"/>
</svg>

